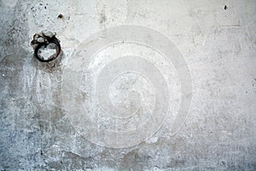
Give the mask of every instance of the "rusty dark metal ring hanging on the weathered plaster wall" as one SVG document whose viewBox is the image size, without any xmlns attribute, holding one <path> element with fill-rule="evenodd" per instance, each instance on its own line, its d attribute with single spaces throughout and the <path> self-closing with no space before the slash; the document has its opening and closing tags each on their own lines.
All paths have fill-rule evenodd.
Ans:
<svg viewBox="0 0 256 171">
<path fill-rule="evenodd" d="M 59 42 L 59 40 L 55 37 L 55 36 L 53 36 L 53 37 L 46 37 L 47 38 L 47 41 L 46 42 L 44 42 L 44 43 L 38 43 L 38 46 L 35 48 L 35 57 L 39 60 L 39 61 L 41 61 L 41 62 L 49 62 L 49 61 L 51 61 L 51 60 L 55 60 L 57 57 L 58 57 L 58 55 L 61 53 L 61 44 L 60 44 L 60 42 Z M 47 60 L 44 60 L 44 59 L 42 59 L 42 58 L 40 58 L 39 56 L 38 56 L 38 50 L 40 49 L 40 48 L 42 48 L 42 47 L 47 47 L 48 45 L 49 45 L 49 43 L 54 43 L 56 46 L 57 46 L 57 49 L 56 49 L 56 53 L 55 53 L 55 55 L 53 56 L 53 57 L 51 57 L 51 58 L 49 58 L 49 59 L 47 59 Z"/>
</svg>

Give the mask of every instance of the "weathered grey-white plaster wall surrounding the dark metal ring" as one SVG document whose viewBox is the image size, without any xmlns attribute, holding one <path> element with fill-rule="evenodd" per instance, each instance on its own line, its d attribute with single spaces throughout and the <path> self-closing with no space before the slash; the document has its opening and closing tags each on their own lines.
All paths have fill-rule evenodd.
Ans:
<svg viewBox="0 0 256 171">
<path fill-rule="evenodd" d="M 0 169 L 256 170 L 255 13 L 254 0 L 0 1 Z M 63 17 L 58 18 L 59 14 Z M 91 62 L 86 60 L 90 42 L 84 40 L 99 31 L 102 37 L 97 38 L 105 40 L 110 37 L 108 28 L 124 25 L 130 30 L 130 25 L 145 27 L 142 35 L 146 31 L 148 37 L 142 38 L 148 43 L 154 37 L 154 33 L 149 34 L 151 30 L 160 32 L 172 41 L 175 47 L 171 47 L 172 52 L 178 49 L 178 55 L 186 61 L 192 80 L 192 100 L 185 122 L 172 119 L 172 116 L 178 117 L 175 113 L 182 103 L 182 81 L 178 78 L 183 77 L 177 76 L 179 69 L 175 64 L 168 66 L 152 48 L 131 45 L 125 39 L 121 45 L 109 50 L 104 48 Z M 147 32 L 146 28 L 151 30 Z M 61 39 L 61 57 L 49 64 L 33 58 L 30 46 L 32 35 L 42 30 L 55 31 Z M 118 30 L 117 35 L 122 35 L 122 31 Z M 112 37 L 119 39 L 114 34 Z M 136 39 L 137 36 L 126 38 L 131 37 Z M 155 41 L 152 38 L 152 42 Z M 100 76 L 93 74 L 106 70 L 108 62 L 115 60 L 112 56 L 119 54 L 141 55 L 151 60 L 160 68 L 170 90 L 172 99 L 160 96 L 160 107 L 164 106 L 161 104 L 171 106 L 165 122 L 153 131 L 154 134 L 147 130 L 137 132 L 141 137 L 145 133 L 147 139 L 140 140 L 129 134 L 124 139 L 119 137 L 121 142 L 100 140 L 104 136 L 116 140 L 111 134 L 102 134 L 104 128 L 136 129 L 137 124 L 147 120 L 147 112 L 157 118 L 151 128 L 162 119 L 157 117 L 160 111 L 149 110 L 158 100 L 158 95 L 151 95 L 163 93 L 157 91 L 154 78 L 153 83 L 149 83 L 152 80 L 137 76 L 137 72 L 115 78 L 109 86 L 112 92 L 109 99 L 124 112 L 108 112 L 113 114 L 110 117 L 100 111 L 94 116 L 98 111 L 93 100 L 90 103 L 90 96 L 96 94 L 91 93 L 90 84 L 83 87 L 80 83 L 87 79 L 83 78 L 87 76 L 84 72 L 91 71 L 89 83 L 94 84 L 94 79 Z M 127 63 L 134 59 L 140 61 L 129 58 Z M 86 62 L 90 63 L 89 69 L 79 72 L 84 67 L 79 64 Z M 75 67 L 72 71 L 71 66 Z M 107 67 L 107 71 L 112 68 Z M 148 77 L 159 78 L 153 69 L 148 71 L 152 71 Z M 79 83 L 75 82 L 79 76 L 82 77 Z M 103 81 L 99 86 L 108 82 Z M 123 100 L 124 94 L 128 94 L 128 100 Z M 141 102 L 140 105 L 137 102 Z M 131 111 L 140 109 L 129 120 L 131 123 L 126 119 L 132 116 L 122 116 L 127 104 Z M 84 113 L 96 118 L 100 134 L 94 134 Z M 113 124 L 111 118 L 117 121 L 119 114 L 123 123 Z M 180 129 L 180 125 L 172 127 L 177 121 L 183 123 Z M 173 128 L 178 129 L 174 134 Z M 134 140 L 138 141 L 133 145 Z"/>
</svg>

